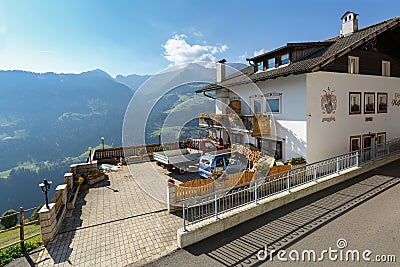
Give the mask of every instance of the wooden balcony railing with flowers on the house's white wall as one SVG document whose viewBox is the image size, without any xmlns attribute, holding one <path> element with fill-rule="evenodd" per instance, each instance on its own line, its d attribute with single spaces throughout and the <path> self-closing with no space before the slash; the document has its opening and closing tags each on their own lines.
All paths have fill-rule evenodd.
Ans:
<svg viewBox="0 0 400 267">
<path fill-rule="evenodd" d="M 199 114 L 199 126 L 225 128 L 261 136 L 270 134 L 271 117 L 270 115 Z"/>
</svg>

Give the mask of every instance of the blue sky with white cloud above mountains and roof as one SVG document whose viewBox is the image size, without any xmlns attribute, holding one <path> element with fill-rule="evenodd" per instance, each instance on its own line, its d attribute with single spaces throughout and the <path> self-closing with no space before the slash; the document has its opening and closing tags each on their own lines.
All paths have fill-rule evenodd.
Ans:
<svg viewBox="0 0 400 267">
<path fill-rule="evenodd" d="M 400 16 L 400 1 L 0 0 L 0 69 L 115 76 L 192 60 L 245 62 L 338 35 L 347 10 L 364 27 Z"/>
</svg>

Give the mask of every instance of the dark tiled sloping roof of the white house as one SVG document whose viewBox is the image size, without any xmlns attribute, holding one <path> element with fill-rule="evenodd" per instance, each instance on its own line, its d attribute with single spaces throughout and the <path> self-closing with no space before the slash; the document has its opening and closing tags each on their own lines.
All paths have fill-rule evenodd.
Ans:
<svg viewBox="0 0 400 267">
<path fill-rule="evenodd" d="M 359 47 L 360 45 L 368 42 L 375 36 L 381 34 L 382 32 L 391 29 L 395 26 L 400 25 L 400 17 L 395 17 L 365 28 L 362 28 L 353 34 L 341 37 L 336 36 L 334 38 L 325 40 L 323 42 L 319 42 L 321 44 L 326 44 L 325 46 L 321 45 L 321 49 L 317 52 L 314 52 L 311 55 L 304 57 L 303 59 L 292 62 L 289 65 L 282 66 L 276 69 L 267 70 L 267 71 L 259 71 L 253 72 L 253 67 L 247 67 L 241 70 L 241 73 L 245 75 L 231 75 L 228 77 L 224 82 L 220 84 L 211 84 L 201 90 L 196 92 L 202 91 L 209 91 L 215 90 L 222 87 L 229 87 L 232 85 L 237 85 L 241 83 L 249 83 L 251 81 L 257 82 L 262 80 L 274 79 L 282 76 L 288 76 L 292 74 L 302 74 L 307 72 L 314 72 L 318 71 L 327 64 L 334 61 L 336 58 L 348 53 L 349 51 Z M 312 44 L 305 43 L 305 44 Z M 314 43 L 315 44 L 315 43 Z M 289 45 L 289 44 L 288 44 Z M 281 50 L 284 47 L 278 48 L 276 50 Z M 276 51 L 274 50 L 274 51 Z M 270 52 L 269 52 L 270 53 Z M 262 56 L 266 56 L 268 53 L 254 57 L 260 58 Z M 252 60 L 249 59 L 249 60 Z M 239 74 L 241 74 L 239 73 Z M 243 77 L 246 76 L 246 77 Z"/>
</svg>

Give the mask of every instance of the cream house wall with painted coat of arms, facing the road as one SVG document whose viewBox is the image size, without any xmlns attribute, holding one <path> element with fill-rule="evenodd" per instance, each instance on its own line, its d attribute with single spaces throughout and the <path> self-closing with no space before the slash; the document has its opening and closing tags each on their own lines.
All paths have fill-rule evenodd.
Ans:
<svg viewBox="0 0 400 267">
<path fill-rule="evenodd" d="M 307 83 L 307 161 L 344 154 L 350 151 L 350 136 L 386 132 L 387 140 L 400 137 L 400 107 L 392 106 L 395 93 L 400 93 L 400 79 L 370 75 L 316 72 L 306 74 Z M 335 121 L 322 113 L 323 89 L 334 90 L 337 96 Z M 349 92 L 362 92 L 362 114 L 349 115 Z M 364 114 L 364 92 L 388 93 L 388 113 Z M 375 94 L 375 109 L 377 109 Z M 372 117 L 372 122 L 366 122 Z"/>
</svg>

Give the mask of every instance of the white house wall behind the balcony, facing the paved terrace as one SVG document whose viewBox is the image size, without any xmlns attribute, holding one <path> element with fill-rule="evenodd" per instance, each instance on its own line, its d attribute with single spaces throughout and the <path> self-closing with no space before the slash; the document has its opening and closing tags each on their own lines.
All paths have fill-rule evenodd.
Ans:
<svg viewBox="0 0 400 267">
<path fill-rule="evenodd" d="M 271 132 L 271 139 L 284 139 L 284 160 L 300 155 L 306 157 L 306 74 L 266 80 L 257 82 L 256 85 L 257 87 L 248 84 L 229 88 L 233 91 L 230 96 L 238 95 L 250 105 L 249 99 L 252 95 L 282 93 L 282 112 L 273 114 L 275 127 Z M 254 142 L 254 138 L 250 139 Z"/>
</svg>

